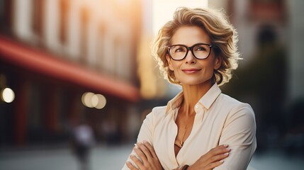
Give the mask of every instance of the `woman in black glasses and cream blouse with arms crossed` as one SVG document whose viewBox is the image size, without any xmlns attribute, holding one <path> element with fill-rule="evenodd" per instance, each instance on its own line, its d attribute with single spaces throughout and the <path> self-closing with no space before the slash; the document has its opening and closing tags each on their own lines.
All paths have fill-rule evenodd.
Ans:
<svg viewBox="0 0 304 170">
<path fill-rule="evenodd" d="M 221 11 L 174 13 L 154 51 L 165 77 L 183 90 L 147 115 L 123 169 L 247 169 L 257 147 L 254 111 L 218 87 L 237 68 L 236 43 Z"/>
</svg>

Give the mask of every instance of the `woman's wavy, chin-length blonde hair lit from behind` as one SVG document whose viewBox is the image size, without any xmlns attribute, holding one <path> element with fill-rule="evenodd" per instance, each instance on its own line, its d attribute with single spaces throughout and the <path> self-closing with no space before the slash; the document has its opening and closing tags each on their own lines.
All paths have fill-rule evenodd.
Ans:
<svg viewBox="0 0 304 170">
<path fill-rule="evenodd" d="M 175 31 L 182 26 L 198 26 L 208 33 L 216 57 L 222 64 L 213 73 L 213 82 L 219 86 L 232 78 L 232 70 L 237 69 L 240 53 L 237 51 L 237 31 L 227 19 L 223 10 L 213 8 L 177 8 L 173 19 L 160 30 L 152 45 L 152 55 L 159 64 L 159 69 L 172 84 L 180 84 L 169 69 L 166 60 L 167 47 Z"/>
</svg>

